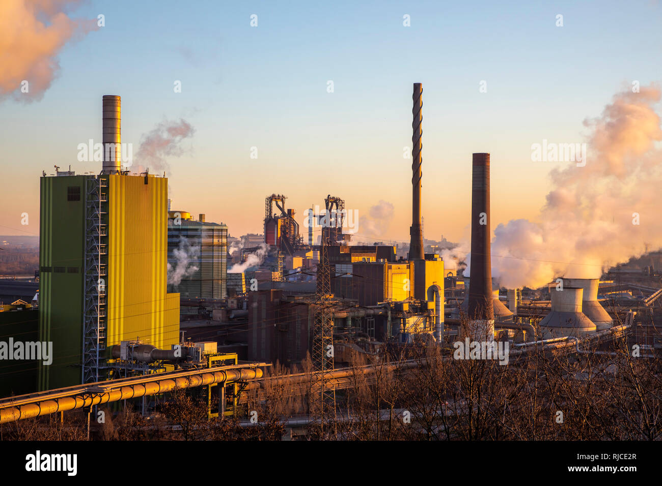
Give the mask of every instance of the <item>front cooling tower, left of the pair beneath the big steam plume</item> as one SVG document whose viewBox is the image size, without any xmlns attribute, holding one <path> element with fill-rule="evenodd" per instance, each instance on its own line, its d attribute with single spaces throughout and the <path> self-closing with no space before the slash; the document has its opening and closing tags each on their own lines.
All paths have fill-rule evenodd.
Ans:
<svg viewBox="0 0 662 486">
<path fill-rule="evenodd" d="M 551 291 L 551 311 L 540 321 L 543 339 L 580 337 L 594 333 L 596 326 L 582 312 L 583 288 L 563 287 Z"/>
</svg>

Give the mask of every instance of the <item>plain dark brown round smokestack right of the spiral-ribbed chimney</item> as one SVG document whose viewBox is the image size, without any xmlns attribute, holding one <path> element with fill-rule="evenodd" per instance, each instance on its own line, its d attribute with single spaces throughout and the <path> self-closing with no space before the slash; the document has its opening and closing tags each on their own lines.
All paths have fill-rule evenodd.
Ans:
<svg viewBox="0 0 662 486">
<path fill-rule="evenodd" d="M 471 272 L 467 317 L 484 321 L 494 337 L 492 266 L 490 259 L 490 154 L 473 154 L 471 184 Z M 491 324 L 490 324 L 491 323 Z M 474 326 L 475 328 L 475 326 Z M 482 331 L 481 331 L 482 332 Z"/>
</svg>

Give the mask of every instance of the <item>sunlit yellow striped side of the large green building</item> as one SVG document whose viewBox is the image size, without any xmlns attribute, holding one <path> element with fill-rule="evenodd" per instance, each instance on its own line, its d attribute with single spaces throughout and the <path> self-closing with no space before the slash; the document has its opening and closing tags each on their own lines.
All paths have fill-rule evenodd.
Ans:
<svg viewBox="0 0 662 486">
<path fill-rule="evenodd" d="M 167 179 L 109 175 L 107 346 L 179 343 L 179 294 L 167 294 Z"/>
</svg>

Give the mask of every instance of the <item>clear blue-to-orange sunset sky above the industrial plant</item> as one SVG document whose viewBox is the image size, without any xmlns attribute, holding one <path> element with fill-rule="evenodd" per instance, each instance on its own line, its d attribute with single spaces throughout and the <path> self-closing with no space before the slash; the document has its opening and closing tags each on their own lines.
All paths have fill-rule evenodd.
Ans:
<svg viewBox="0 0 662 486">
<path fill-rule="evenodd" d="M 261 233 L 269 194 L 285 194 L 302 227 L 304 210 L 332 194 L 367 218 L 373 206 L 393 207 L 379 234 L 359 224 L 356 239 L 408 241 L 403 154 L 412 83 L 423 83 L 425 237 L 459 241 L 469 232 L 473 152 L 491 153 L 492 227 L 536 220 L 549 172 L 564 164 L 532 161 L 532 144 L 585 142 L 584 120 L 615 93 L 662 79 L 662 12 L 649 0 L 58 0 L 62 9 L 34 15 L 43 21 L 35 38 L 49 27 L 60 37 L 46 67 L 29 71 L 48 82 L 26 94 L 16 81 L 25 56 L 12 53 L 17 42 L 44 44 L 22 38 L 26 28 L 7 42 L 7 29 L 27 4 L 0 7 L 5 235 L 38 235 L 42 171 L 100 171 L 77 160 L 77 146 L 101 141 L 103 95 L 122 97 L 122 142 L 134 147 L 159 124 L 191 126 L 164 155 L 173 209 L 240 236 Z M 62 15 L 79 24 L 62 26 Z"/>
</svg>

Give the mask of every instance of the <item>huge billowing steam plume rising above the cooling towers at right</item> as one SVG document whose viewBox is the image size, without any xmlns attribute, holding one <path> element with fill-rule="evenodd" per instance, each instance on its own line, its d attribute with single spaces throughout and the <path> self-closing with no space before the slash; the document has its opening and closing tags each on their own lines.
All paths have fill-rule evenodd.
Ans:
<svg viewBox="0 0 662 486">
<path fill-rule="evenodd" d="M 585 167 L 550 173 L 540 223 L 511 220 L 495 229 L 492 268 L 500 285 L 537 288 L 603 270 L 662 247 L 659 87 L 618 93 L 591 129 Z M 468 272 L 467 272 L 468 274 Z"/>
</svg>

